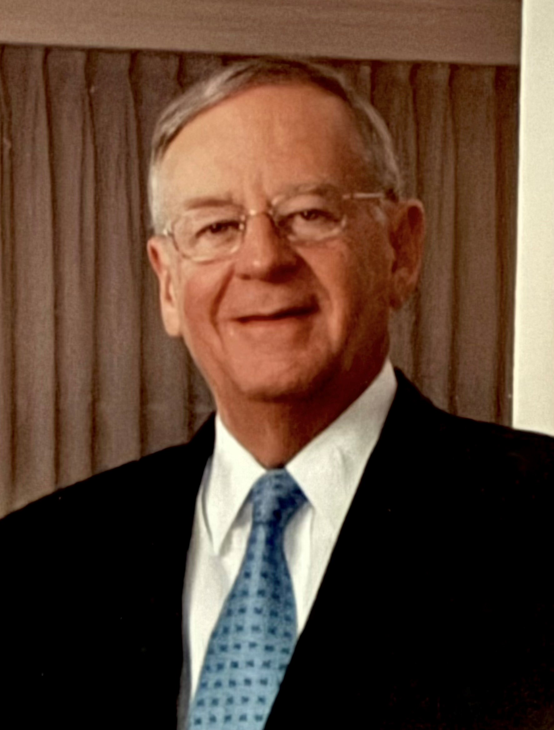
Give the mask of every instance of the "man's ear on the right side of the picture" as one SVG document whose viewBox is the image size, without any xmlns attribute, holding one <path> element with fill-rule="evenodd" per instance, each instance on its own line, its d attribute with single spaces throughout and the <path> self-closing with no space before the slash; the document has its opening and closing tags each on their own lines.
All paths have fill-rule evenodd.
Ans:
<svg viewBox="0 0 554 730">
<path fill-rule="evenodd" d="M 398 310 L 414 291 L 420 277 L 425 238 L 425 212 L 419 200 L 401 200 L 390 216 L 392 264 L 390 306 Z"/>
</svg>

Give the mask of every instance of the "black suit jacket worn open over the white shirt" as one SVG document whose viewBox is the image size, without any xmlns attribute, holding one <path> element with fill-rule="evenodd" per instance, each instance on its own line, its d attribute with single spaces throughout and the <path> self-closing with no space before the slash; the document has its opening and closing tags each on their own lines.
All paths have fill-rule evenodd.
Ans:
<svg viewBox="0 0 554 730">
<path fill-rule="evenodd" d="M 397 376 L 267 730 L 554 726 L 554 441 Z M 210 420 L 1 521 L 1 727 L 175 728 L 212 449 Z"/>
</svg>

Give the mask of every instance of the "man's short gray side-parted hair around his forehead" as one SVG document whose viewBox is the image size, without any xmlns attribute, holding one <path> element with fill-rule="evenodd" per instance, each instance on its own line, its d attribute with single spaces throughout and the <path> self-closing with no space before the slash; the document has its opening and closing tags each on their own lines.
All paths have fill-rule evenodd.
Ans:
<svg viewBox="0 0 554 730">
<path fill-rule="evenodd" d="M 191 86 L 174 99 L 162 112 L 153 132 L 150 169 L 148 171 L 148 201 L 154 230 L 164 226 L 157 194 L 159 165 L 171 142 L 181 129 L 200 112 L 210 109 L 230 96 L 248 88 L 265 85 L 305 83 L 322 88 L 342 99 L 352 112 L 363 141 L 365 166 L 370 184 L 385 195 L 398 200 L 402 180 L 390 132 L 379 112 L 354 91 L 346 80 L 328 66 L 287 58 L 254 58 L 229 64 Z"/>
</svg>

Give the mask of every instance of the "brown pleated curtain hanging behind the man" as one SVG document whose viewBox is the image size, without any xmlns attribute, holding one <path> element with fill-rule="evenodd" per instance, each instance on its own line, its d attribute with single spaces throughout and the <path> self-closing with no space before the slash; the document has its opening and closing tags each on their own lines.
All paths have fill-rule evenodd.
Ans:
<svg viewBox="0 0 554 730">
<path fill-rule="evenodd" d="M 229 58 L 0 51 L 0 513 L 189 439 L 212 408 L 162 330 L 145 177 L 159 111 Z M 509 423 L 517 69 L 338 63 L 428 212 L 392 358 L 436 404 Z"/>
</svg>

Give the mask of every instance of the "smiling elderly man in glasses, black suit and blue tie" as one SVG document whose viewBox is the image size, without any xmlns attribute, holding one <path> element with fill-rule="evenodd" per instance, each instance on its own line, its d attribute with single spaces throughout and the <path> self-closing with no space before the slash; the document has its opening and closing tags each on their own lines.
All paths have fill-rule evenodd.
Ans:
<svg viewBox="0 0 554 730">
<path fill-rule="evenodd" d="M 424 219 L 375 110 L 227 67 L 162 115 L 150 197 L 216 418 L 4 520 L 11 726 L 546 727 L 553 442 L 392 369 Z"/>
</svg>

